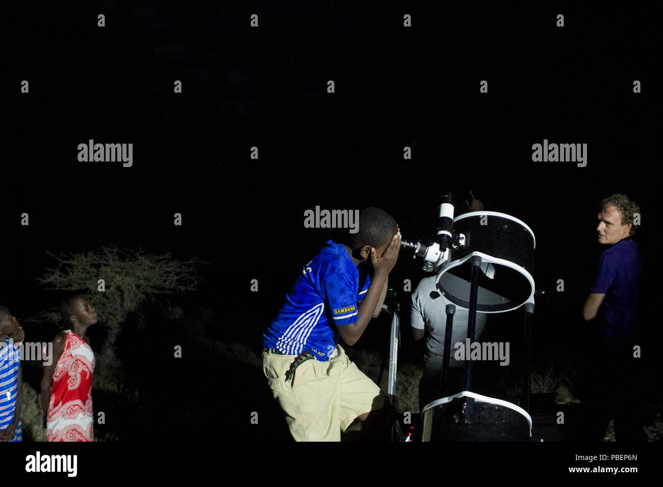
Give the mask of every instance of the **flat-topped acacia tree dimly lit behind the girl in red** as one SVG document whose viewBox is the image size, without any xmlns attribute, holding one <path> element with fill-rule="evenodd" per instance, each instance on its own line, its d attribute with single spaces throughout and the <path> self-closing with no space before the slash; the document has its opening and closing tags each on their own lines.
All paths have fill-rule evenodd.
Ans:
<svg viewBox="0 0 663 487">
<path fill-rule="evenodd" d="M 95 347 L 95 388 L 114 391 L 121 389 L 122 377 L 115 343 L 127 315 L 156 296 L 195 290 L 202 281 L 197 268 L 208 263 L 195 256 L 180 261 L 170 253 L 154 255 L 113 245 L 77 254 L 47 253 L 58 265 L 46 269 L 37 282 L 46 290 L 82 292 L 91 296 L 99 315 L 99 325 L 108 331 L 105 341 L 98 349 Z M 46 320 L 59 322 L 60 314 L 50 309 L 33 321 Z"/>
</svg>

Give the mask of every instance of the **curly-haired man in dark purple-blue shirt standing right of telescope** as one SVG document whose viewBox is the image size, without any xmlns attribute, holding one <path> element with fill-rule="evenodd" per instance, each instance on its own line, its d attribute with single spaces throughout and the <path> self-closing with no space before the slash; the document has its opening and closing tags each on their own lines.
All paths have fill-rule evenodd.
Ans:
<svg viewBox="0 0 663 487">
<path fill-rule="evenodd" d="M 623 194 L 603 199 L 600 208 L 597 237 L 607 248 L 601 252 L 597 278 L 582 310 L 583 319 L 593 325 L 582 374 L 585 439 L 601 441 L 613 419 L 615 439 L 645 441 L 636 390 L 640 358 L 634 348 L 640 345 L 636 325 L 642 254 L 631 239 L 640 208 Z"/>
</svg>

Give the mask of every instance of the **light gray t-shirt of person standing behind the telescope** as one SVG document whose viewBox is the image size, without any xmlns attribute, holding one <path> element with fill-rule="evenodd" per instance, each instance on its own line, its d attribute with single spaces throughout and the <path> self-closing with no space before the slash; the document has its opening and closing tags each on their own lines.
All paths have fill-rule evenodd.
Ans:
<svg viewBox="0 0 663 487">
<path fill-rule="evenodd" d="M 435 354 L 442 356 L 444 354 L 444 332 L 447 327 L 447 314 L 446 306 L 451 304 L 451 301 L 442 296 L 435 287 L 436 276 L 423 278 L 416 290 L 412 293 L 412 308 L 410 311 L 410 319 L 413 328 L 426 330 L 424 339 L 426 340 L 426 350 L 428 354 Z M 434 292 L 435 299 L 430 297 Z M 467 317 L 469 311 L 456 307 L 455 315 L 453 315 L 453 329 L 452 329 L 452 347 L 451 359 L 449 360 L 450 366 L 462 366 L 465 362 L 459 362 L 453 359 L 453 345 L 458 342 L 465 343 L 467 339 Z M 486 324 L 487 313 L 477 313 L 477 320 L 475 322 L 475 341 L 479 341 L 483 327 Z"/>
</svg>

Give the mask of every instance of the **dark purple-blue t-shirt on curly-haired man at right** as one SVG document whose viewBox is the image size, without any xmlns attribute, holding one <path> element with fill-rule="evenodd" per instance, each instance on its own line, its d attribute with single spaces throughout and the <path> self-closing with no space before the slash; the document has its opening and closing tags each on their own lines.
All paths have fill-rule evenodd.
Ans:
<svg viewBox="0 0 663 487">
<path fill-rule="evenodd" d="M 607 340 L 633 339 L 641 275 L 640 246 L 631 238 L 623 239 L 601 253 L 599 274 L 590 291 L 605 294 L 599 313 L 605 323 Z"/>
</svg>

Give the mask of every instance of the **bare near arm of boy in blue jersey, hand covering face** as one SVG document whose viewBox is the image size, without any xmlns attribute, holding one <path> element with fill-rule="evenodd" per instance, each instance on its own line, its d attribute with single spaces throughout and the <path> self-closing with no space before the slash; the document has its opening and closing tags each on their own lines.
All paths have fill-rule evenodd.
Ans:
<svg viewBox="0 0 663 487">
<path fill-rule="evenodd" d="M 337 330 L 341 338 L 347 345 L 355 345 L 359 337 L 364 333 L 373 313 L 377 310 L 383 288 L 387 287 L 387 278 L 391 272 L 400 251 L 400 232 L 396 233 L 391 239 L 385 253 L 378 258 L 375 255 L 375 248 L 371 248 L 371 264 L 373 264 L 373 279 L 365 298 L 357 305 L 357 321 L 350 325 L 339 325 Z M 381 305 L 382 306 L 382 305 Z"/>
</svg>

